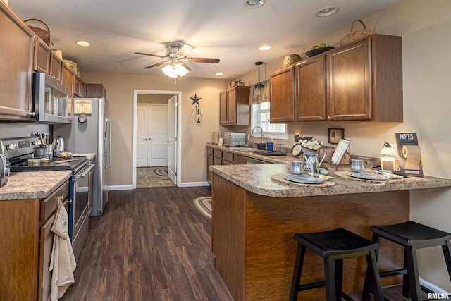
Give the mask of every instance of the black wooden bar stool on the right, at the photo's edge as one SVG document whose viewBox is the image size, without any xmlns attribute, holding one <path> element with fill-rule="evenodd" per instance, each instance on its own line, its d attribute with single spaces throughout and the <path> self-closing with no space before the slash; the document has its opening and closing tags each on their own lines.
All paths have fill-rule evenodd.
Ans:
<svg viewBox="0 0 451 301">
<path fill-rule="evenodd" d="M 419 283 L 418 262 L 416 259 L 416 250 L 425 247 L 442 246 L 443 255 L 451 280 L 451 234 L 431 228 L 414 221 L 406 221 L 388 226 L 371 226 L 373 231 L 373 242 L 381 245 L 381 238 L 385 238 L 404 247 L 404 267 L 391 271 L 383 271 L 380 277 L 404 275 L 402 278 L 402 295 L 412 297 L 412 301 L 421 301 L 421 286 Z M 376 258 L 378 250 L 376 250 Z M 371 276 L 371 275 L 370 275 Z M 365 279 L 362 300 L 369 300 L 371 284 L 368 274 Z M 424 289 L 426 290 L 426 289 Z M 432 293 L 430 290 L 426 290 Z"/>
</svg>

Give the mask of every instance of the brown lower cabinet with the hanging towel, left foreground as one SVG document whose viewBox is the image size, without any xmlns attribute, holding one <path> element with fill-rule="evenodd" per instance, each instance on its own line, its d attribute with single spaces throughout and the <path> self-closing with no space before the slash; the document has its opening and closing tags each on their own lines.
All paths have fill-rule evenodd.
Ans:
<svg viewBox="0 0 451 301">
<path fill-rule="evenodd" d="M 49 300 L 51 225 L 58 197 L 66 209 L 66 181 L 46 199 L 0 201 L 0 300 Z"/>
</svg>

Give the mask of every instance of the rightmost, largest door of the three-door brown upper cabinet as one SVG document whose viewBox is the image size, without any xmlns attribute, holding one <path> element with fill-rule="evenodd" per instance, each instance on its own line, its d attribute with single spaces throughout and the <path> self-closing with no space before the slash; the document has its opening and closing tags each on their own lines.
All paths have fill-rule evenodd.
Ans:
<svg viewBox="0 0 451 301">
<path fill-rule="evenodd" d="M 371 39 L 340 47 L 328 56 L 327 118 L 364 121 L 372 117 Z"/>
</svg>

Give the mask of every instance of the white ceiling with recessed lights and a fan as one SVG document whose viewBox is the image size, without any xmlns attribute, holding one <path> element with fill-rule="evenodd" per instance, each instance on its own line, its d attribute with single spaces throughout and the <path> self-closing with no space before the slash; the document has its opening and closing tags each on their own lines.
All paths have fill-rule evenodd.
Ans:
<svg viewBox="0 0 451 301">
<path fill-rule="evenodd" d="M 185 77 L 235 79 L 255 68 L 256 61 L 282 58 L 303 41 L 349 26 L 400 0 L 266 0 L 245 9 L 244 0 L 10 0 L 20 18 L 44 21 L 52 48 L 94 73 L 163 75 L 161 66 L 143 69 L 161 59 L 135 52 L 164 55 L 166 44 L 182 41 L 196 49 L 189 56 L 218 58 L 218 64 L 187 63 Z M 333 16 L 316 11 L 338 6 Z M 75 44 L 85 40 L 90 47 Z M 323 41 L 318 41 L 318 44 Z M 270 44 L 269 51 L 258 47 Z"/>
</svg>

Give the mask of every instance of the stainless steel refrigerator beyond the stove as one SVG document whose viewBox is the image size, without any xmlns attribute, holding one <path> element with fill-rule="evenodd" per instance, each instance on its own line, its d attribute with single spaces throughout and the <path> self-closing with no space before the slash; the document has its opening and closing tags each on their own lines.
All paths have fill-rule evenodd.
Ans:
<svg viewBox="0 0 451 301">
<path fill-rule="evenodd" d="M 103 213 L 108 202 L 108 170 L 111 168 L 111 118 L 103 98 L 74 99 L 72 123 L 54 125 L 54 137 L 64 138 L 64 149 L 96 153 L 91 216 Z"/>
</svg>

